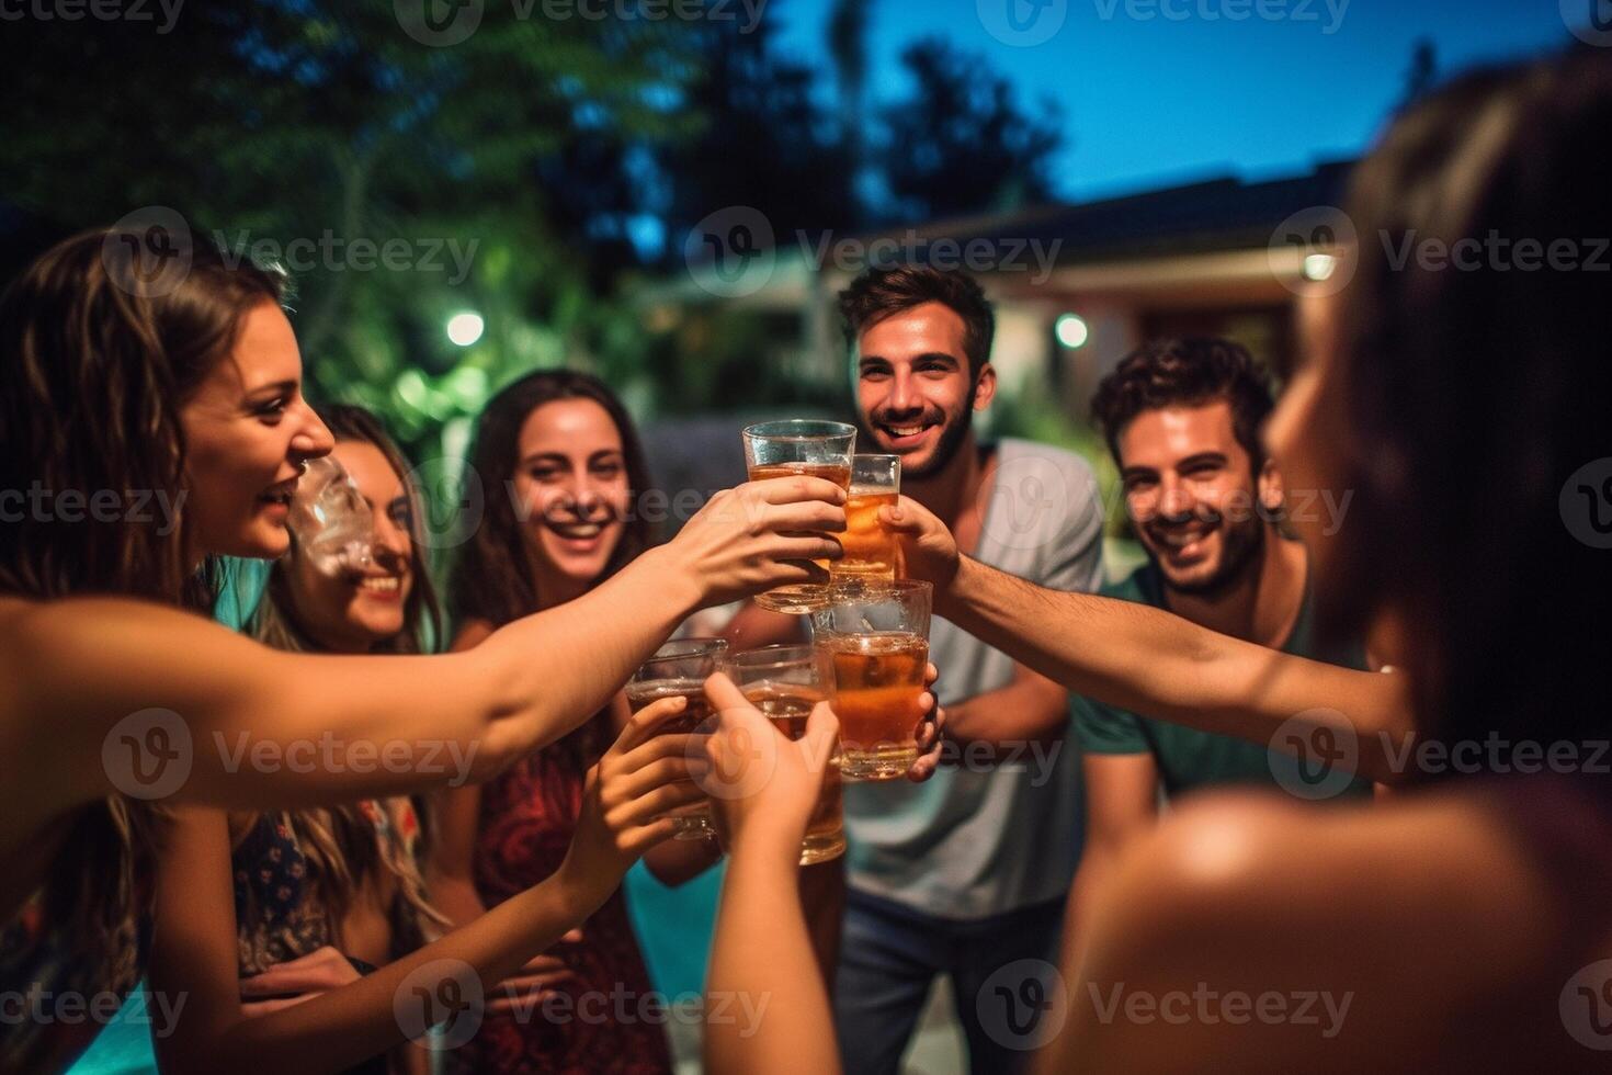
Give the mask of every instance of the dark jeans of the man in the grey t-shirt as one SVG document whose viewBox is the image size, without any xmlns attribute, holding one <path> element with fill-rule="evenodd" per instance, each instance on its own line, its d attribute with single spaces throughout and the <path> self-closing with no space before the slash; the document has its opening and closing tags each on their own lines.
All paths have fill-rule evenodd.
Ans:
<svg viewBox="0 0 1612 1075">
<path fill-rule="evenodd" d="M 859 893 L 846 896 L 835 1028 L 846 1075 L 893 1075 L 935 975 L 951 975 L 969 1070 L 1027 1067 L 1037 1001 L 1051 996 L 1064 901 L 954 922 Z M 1038 982 L 1028 982 L 1028 977 Z"/>
</svg>

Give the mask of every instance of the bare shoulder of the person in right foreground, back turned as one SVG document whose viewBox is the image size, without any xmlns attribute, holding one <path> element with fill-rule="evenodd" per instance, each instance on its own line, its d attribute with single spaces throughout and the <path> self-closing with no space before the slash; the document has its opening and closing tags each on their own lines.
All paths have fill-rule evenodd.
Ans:
<svg viewBox="0 0 1612 1075">
<path fill-rule="evenodd" d="M 1401 796 L 1391 804 L 1315 806 L 1278 795 L 1222 793 L 1177 811 L 1122 862 L 1116 903 L 1136 919 L 1222 933 L 1320 935 L 1340 961 L 1406 951 L 1454 953 L 1502 975 L 1528 957 L 1528 922 L 1549 882 L 1481 801 Z M 1506 928 L 1491 930 L 1496 924 Z M 1435 957 L 1423 973 L 1441 973 Z"/>
</svg>

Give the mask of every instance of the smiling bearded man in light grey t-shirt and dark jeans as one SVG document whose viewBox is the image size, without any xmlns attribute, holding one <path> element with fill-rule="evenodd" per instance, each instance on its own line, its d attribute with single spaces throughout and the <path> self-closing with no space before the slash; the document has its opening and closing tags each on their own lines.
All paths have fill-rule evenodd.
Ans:
<svg viewBox="0 0 1612 1075">
<path fill-rule="evenodd" d="M 1059 448 L 975 438 L 974 413 L 996 392 L 995 316 L 980 285 L 927 266 L 875 268 L 841 292 L 840 313 L 858 446 L 901 456 L 903 492 L 975 559 L 1043 587 L 1093 590 L 1103 513 L 1091 469 Z M 1019 1035 L 991 1022 L 998 972 L 1057 959 L 1080 857 L 1067 693 L 940 617 L 930 661 L 946 737 L 962 745 L 951 757 L 966 764 L 922 787 L 845 785 L 850 891 L 835 1019 L 853 1073 L 898 1069 L 937 975 L 953 982 L 970 1069 L 1022 1067 Z M 1016 762 L 1025 743 L 1041 764 Z"/>
</svg>

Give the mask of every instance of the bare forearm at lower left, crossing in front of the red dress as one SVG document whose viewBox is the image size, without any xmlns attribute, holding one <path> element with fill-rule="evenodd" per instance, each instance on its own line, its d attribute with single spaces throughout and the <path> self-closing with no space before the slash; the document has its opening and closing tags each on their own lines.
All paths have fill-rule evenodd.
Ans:
<svg viewBox="0 0 1612 1075">
<path fill-rule="evenodd" d="M 237 1020 L 202 1051 L 205 1067 L 229 1072 L 351 1067 L 403 1040 L 403 1014 L 424 1027 L 427 1004 L 429 1017 L 440 1022 L 451 1014 L 442 1002 L 445 998 L 472 999 L 479 991 L 492 1001 L 498 982 L 587 919 L 606 894 L 596 882 L 556 874 L 353 985 L 272 1015 Z M 427 964 L 432 964 L 429 975 L 411 978 Z M 442 988 L 447 978 L 456 982 L 448 986 L 456 993 Z"/>
</svg>

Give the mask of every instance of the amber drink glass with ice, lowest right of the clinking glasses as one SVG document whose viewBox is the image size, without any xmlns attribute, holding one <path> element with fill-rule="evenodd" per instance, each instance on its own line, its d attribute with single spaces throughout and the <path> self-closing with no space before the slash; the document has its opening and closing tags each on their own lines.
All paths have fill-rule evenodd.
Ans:
<svg viewBox="0 0 1612 1075">
<path fill-rule="evenodd" d="M 833 674 L 840 772 L 848 780 L 895 780 L 917 761 L 932 598 L 927 582 L 841 587 L 812 612 L 816 645 Z"/>
</svg>

